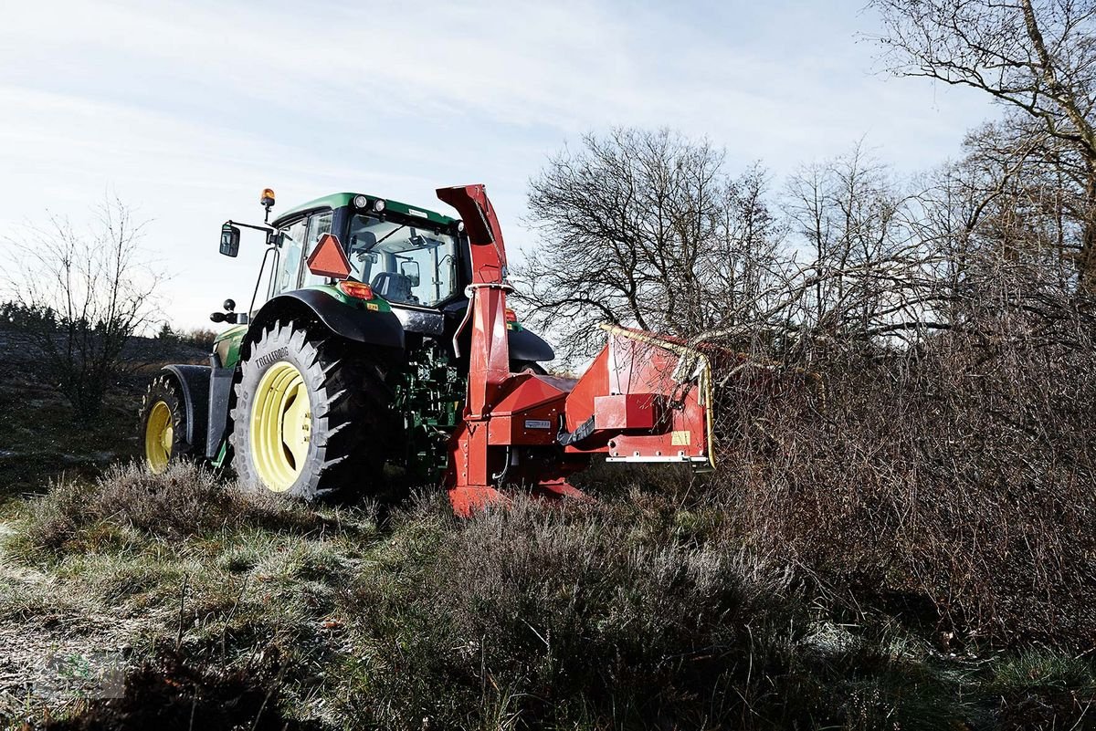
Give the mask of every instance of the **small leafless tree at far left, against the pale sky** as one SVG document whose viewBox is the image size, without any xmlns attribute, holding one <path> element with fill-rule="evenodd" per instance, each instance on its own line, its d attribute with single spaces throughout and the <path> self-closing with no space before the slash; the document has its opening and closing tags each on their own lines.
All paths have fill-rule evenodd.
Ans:
<svg viewBox="0 0 1096 731">
<path fill-rule="evenodd" d="M 23 334 L 37 368 L 83 417 L 98 414 L 107 388 L 130 370 L 126 344 L 155 314 L 161 278 L 142 260 L 142 228 L 110 199 L 88 233 L 50 217 L 46 227 L 9 240 L 12 301 L 48 316 L 12 317 L 8 326 Z"/>
</svg>

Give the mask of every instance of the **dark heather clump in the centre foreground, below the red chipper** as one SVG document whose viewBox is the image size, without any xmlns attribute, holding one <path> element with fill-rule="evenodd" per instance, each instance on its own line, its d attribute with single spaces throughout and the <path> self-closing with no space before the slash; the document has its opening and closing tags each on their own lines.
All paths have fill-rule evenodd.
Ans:
<svg viewBox="0 0 1096 731">
<path fill-rule="evenodd" d="M 803 605 L 745 556 L 647 542 L 618 518 L 522 503 L 438 536 L 395 596 L 358 582 L 380 653 L 372 674 L 391 704 L 370 706 L 377 722 L 404 726 L 418 705 L 444 727 L 488 726 L 446 715 L 455 698 L 458 712 L 483 703 L 533 727 L 722 713 L 706 710 L 712 694 L 746 677 L 754 651 L 795 641 Z"/>
</svg>

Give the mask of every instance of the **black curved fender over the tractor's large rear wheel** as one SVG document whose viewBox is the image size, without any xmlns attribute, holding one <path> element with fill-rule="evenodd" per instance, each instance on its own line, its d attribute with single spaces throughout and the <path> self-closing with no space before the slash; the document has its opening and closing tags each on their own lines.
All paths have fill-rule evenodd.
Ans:
<svg viewBox="0 0 1096 731">
<path fill-rule="evenodd" d="M 403 350 L 403 326 L 391 312 L 358 310 L 318 289 L 299 289 L 269 301 L 255 313 L 247 340 L 253 340 L 259 328 L 277 320 L 283 312 L 299 314 L 301 306 L 347 340 Z"/>
</svg>

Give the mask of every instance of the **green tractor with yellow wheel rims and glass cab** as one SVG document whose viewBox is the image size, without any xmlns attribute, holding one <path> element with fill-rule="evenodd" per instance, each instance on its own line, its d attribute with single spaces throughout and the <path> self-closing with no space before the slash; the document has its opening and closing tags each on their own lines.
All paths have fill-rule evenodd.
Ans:
<svg viewBox="0 0 1096 731">
<path fill-rule="evenodd" d="M 274 194 L 263 192 L 266 219 Z M 141 406 L 153 472 L 178 459 L 231 466 L 246 483 L 305 499 L 379 489 L 386 465 L 436 480 L 468 380 L 469 243 L 457 219 L 339 193 L 263 225 L 251 305 L 210 318 L 209 366 L 167 366 Z M 458 335 L 459 334 L 459 335 Z M 543 373 L 552 349 L 506 311 L 512 372 Z M 391 469 L 387 469 L 391 472 Z"/>
</svg>

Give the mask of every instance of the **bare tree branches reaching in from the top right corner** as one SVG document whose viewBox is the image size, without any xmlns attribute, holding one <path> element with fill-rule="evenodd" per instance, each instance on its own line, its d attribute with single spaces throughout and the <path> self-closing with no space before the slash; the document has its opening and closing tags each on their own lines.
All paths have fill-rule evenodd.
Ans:
<svg viewBox="0 0 1096 731">
<path fill-rule="evenodd" d="M 971 86 L 1011 109 L 1013 147 L 1073 184 L 1077 286 L 1096 289 L 1096 7 L 1087 0 L 875 0 L 890 68 Z"/>
</svg>

